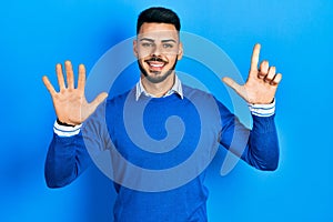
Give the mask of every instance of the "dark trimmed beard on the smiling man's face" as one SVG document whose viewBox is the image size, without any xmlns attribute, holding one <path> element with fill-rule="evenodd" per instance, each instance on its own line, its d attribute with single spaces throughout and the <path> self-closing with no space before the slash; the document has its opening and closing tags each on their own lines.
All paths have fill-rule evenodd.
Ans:
<svg viewBox="0 0 333 222">
<path fill-rule="evenodd" d="M 159 61 L 159 60 L 160 60 L 160 58 L 151 58 L 150 59 L 150 61 Z M 148 81 L 150 81 L 151 83 L 160 83 L 160 82 L 163 82 L 174 71 L 174 68 L 178 62 L 178 58 L 175 59 L 171 69 L 169 69 L 164 73 L 162 73 L 160 71 L 151 71 L 153 73 L 152 75 L 150 75 L 148 73 L 148 71 L 141 65 L 139 60 L 137 60 L 137 61 L 138 61 L 138 65 L 139 65 L 141 73 L 144 75 L 144 78 L 147 78 Z M 149 61 L 149 60 L 147 60 L 147 61 Z M 144 61 L 144 62 L 147 62 L 147 61 Z"/>
</svg>

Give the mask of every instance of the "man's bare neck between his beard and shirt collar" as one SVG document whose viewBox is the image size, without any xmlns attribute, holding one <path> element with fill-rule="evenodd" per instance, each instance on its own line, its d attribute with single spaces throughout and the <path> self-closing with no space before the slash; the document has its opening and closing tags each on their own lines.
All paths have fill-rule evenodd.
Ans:
<svg viewBox="0 0 333 222">
<path fill-rule="evenodd" d="M 174 73 L 170 74 L 164 81 L 159 83 L 150 82 L 141 74 L 141 83 L 144 90 L 157 98 L 163 97 L 174 84 Z"/>
</svg>

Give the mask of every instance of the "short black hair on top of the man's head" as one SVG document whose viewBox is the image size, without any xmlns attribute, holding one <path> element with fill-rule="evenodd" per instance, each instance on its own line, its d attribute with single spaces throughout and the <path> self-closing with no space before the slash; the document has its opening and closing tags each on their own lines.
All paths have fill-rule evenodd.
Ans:
<svg viewBox="0 0 333 222">
<path fill-rule="evenodd" d="M 145 9 L 139 14 L 137 22 L 137 34 L 144 22 L 169 23 L 173 24 L 176 31 L 180 31 L 180 19 L 174 11 L 163 7 L 152 7 Z"/>
</svg>

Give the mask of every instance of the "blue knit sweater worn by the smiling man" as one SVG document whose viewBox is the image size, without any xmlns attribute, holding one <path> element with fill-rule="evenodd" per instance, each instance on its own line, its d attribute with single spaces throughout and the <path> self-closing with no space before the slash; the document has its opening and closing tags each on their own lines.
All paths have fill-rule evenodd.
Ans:
<svg viewBox="0 0 333 222">
<path fill-rule="evenodd" d="M 249 130 L 211 94 L 185 85 L 183 94 L 135 101 L 131 90 L 100 105 L 78 135 L 54 134 L 47 184 L 69 184 L 93 160 L 114 181 L 114 221 L 203 222 L 205 169 L 220 144 L 254 168 L 276 169 L 274 115 L 253 115 Z"/>
</svg>

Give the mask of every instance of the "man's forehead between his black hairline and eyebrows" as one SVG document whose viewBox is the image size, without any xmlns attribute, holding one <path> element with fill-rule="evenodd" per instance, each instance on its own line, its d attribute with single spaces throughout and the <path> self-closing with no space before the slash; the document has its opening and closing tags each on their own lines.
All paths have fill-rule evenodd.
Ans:
<svg viewBox="0 0 333 222">
<path fill-rule="evenodd" d="M 138 39 L 150 38 L 158 39 L 173 39 L 178 40 L 179 33 L 173 24 L 169 23 L 148 23 L 144 22 L 139 31 Z"/>
</svg>

